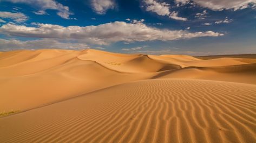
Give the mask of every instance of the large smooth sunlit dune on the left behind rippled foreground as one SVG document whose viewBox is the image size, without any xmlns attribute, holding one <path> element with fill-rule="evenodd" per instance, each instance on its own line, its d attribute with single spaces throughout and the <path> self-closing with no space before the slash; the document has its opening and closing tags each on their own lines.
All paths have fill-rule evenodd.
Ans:
<svg viewBox="0 0 256 143">
<path fill-rule="evenodd" d="M 97 61 L 77 58 L 85 53 L 87 51 L 41 50 L 17 52 L 11 55 L 16 57 L 13 59 L 3 56 L 0 60 L 5 63 L 5 67 L 0 67 L 0 112 L 23 111 L 151 76 L 121 72 Z M 94 54 L 98 53 L 101 52 Z M 28 55 L 33 58 L 27 59 Z M 21 61 L 23 56 L 26 60 Z M 119 59 L 122 60 L 122 56 Z"/>
</svg>

